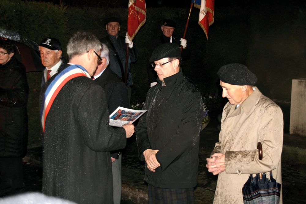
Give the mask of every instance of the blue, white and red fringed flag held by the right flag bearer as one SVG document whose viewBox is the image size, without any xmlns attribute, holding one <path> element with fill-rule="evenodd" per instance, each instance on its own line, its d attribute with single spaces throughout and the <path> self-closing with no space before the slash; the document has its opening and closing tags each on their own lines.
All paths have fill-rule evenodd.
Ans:
<svg viewBox="0 0 306 204">
<path fill-rule="evenodd" d="M 208 27 L 214 23 L 215 0 L 191 0 L 194 7 L 200 9 L 199 25 L 204 30 L 208 40 Z"/>
</svg>

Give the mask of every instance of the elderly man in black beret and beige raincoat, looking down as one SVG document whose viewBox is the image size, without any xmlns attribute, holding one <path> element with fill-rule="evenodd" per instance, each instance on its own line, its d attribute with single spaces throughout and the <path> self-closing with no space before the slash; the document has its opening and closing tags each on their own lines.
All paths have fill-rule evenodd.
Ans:
<svg viewBox="0 0 306 204">
<path fill-rule="evenodd" d="M 229 102 L 223 109 L 219 142 L 211 158 L 206 158 L 206 167 L 219 174 L 214 203 L 243 203 L 242 187 L 250 174 L 272 171 L 273 178 L 282 183 L 282 110 L 253 87 L 257 78 L 245 65 L 224 65 L 218 76 L 222 97 Z M 262 160 L 258 142 L 262 143 Z"/>
</svg>

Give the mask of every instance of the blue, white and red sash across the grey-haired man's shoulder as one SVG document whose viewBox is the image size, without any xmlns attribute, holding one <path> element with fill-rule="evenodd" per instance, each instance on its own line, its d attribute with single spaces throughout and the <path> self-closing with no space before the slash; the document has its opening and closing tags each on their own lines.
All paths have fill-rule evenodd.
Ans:
<svg viewBox="0 0 306 204">
<path fill-rule="evenodd" d="M 91 78 L 87 70 L 81 65 L 71 65 L 60 72 L 47 87 L 43 97 L 42 106 L 40 108 L 40 121 L 43 127 L 43 132 L 45 132 L 47 114 L 49 113 L 49 110 L 54 99 L 58 95 L 58 92 L 69 80 L 78 76 L 86 76 Z"/>
</svg>

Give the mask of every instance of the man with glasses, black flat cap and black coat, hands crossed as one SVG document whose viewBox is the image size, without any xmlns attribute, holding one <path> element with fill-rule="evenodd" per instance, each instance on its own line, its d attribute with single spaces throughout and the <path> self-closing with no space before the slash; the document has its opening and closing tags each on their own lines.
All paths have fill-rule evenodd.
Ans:
<svg viewBox="0 0 306 204">
<path fill-rule="evenodd" d="M 196 85 L 182 74 L 180 48 L 158 46 L 154 61 L 158 84 L 148 93 L 147 112 L 136 126 L 140 160 L 146 161 L 149 203 L 194 203 L 198 178 L 203 102 Z"/>
</svg>

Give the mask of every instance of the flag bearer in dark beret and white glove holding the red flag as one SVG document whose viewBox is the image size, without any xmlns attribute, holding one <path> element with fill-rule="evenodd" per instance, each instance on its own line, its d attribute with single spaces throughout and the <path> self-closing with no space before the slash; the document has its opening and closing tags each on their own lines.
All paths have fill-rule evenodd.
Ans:
<svg viewBox="0 0 306 204">
<path fill-rule="evenodd" d="M 131 100 L 131 86 L 133 85 L 132 74 L 130 73 L 131 62 L 136 62 L 138 59 L 138 51 L 128 36 L 122 37 L 118 35 L 120 31 L 121 20 L 116 17 L 110 17 L 104 20 L 106 28 L 106 37 L 101 39 L 102 43 L 105 43 L 110 50 L 110 64 L 108 67 L 117 74 L 123 82 L 125 82 L 125 59 L 126 59 L 126 44 L 129 44 L 129 58 L 128 58 L 128 79 L 127 87 L 129 94 L 129 103 Z M 115 53 L 118 53 L 116 57 Z M 119 60 L 118 60 L 119 58 Z"/>
</svg>

